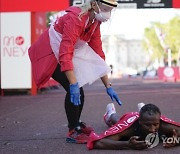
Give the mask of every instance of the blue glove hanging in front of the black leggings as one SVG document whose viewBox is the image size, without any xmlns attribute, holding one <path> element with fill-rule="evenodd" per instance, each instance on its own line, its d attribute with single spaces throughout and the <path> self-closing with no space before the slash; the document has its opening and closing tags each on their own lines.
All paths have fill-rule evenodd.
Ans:
<svg viewBox="0 0 180 154">
<path fill-rule="evenodd" d="M 80 89 L 79 89 L 79 85 L 78 83 L 74 83 L 70 85 L 70 98 L 71 98 L 71 102 L 74 105 L 80 105 L 81 101 L 80 101 Z"/>
</svg>

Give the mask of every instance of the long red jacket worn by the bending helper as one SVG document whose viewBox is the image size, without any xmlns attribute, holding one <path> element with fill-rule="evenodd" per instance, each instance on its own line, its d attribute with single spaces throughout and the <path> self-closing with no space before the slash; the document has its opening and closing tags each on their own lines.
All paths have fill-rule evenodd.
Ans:
<svg viewBox="0 0 180 154">
<path fill-rule="evenodd" d="M 89 12 L 81 18 L 79 17 L 81 9 L 78 7 L 70 7 L 66 12 L 67 14 L 60 17 L 54 26 L 55 30 L 62 34 L 59 48 L 61 71 L 73 70 L 74 45 L 79 39 L 86 41 L 100 57 L 105 59 L 100 35 L 101 23 L 95 20 L 85 32 Z M 58 64 L 50 46 L 48 29 L 32 44 L 28 52 L 32 63 L 33 77 L 39 87 L 49 80 Z"/>
</svg>

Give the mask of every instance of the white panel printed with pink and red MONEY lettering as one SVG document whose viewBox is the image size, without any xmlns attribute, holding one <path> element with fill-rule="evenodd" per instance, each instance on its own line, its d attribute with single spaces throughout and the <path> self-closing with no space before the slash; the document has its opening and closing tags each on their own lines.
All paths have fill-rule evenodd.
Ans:
<svg viewBox="0 0 180 154">
<path fill-rule="evenodd" d="M 1 88 L 31 88 L 31 14 L 1 13 Z"/>
</svg>

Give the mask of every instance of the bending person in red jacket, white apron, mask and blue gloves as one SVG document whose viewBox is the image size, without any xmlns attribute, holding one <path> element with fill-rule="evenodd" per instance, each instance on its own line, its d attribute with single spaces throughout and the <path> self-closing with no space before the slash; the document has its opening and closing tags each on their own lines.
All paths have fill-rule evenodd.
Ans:
<svg viewBox="0 0 180 154">
<path fill-rule="evenodd" d="M 111 16 L 116 0 L 87 0 L 70 7 L 29 48 L 33 78 L 39 87 L 50 77 L 66 90 L 65 111 L 71 143 L 86 143 L 93 130 L 80 121 L 84 105 L 83 85 L 101 78 L 107 94 L 121 105 L 111 87 L 102 50 L 100 25 Z"/>
</svg>

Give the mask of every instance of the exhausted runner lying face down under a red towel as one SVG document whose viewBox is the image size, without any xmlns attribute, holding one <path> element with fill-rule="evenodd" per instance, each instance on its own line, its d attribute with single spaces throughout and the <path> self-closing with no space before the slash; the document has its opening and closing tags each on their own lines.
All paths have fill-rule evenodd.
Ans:
<svg viewBox="0 0 180 154">
<path fill-rule="evenodd" d="M 153 104 L 144 104 L 139 113 L 129 112 L 120 119 L 113 103 L 108 104 L 106 110 L 104 120 L 110 128 L 101 135 L 90 134 L 89 150 L 142 150 L 155 147 L 159 140 L 166 148 L 180 145 L 180 123 L 162 116 Z"/>
</svg>

